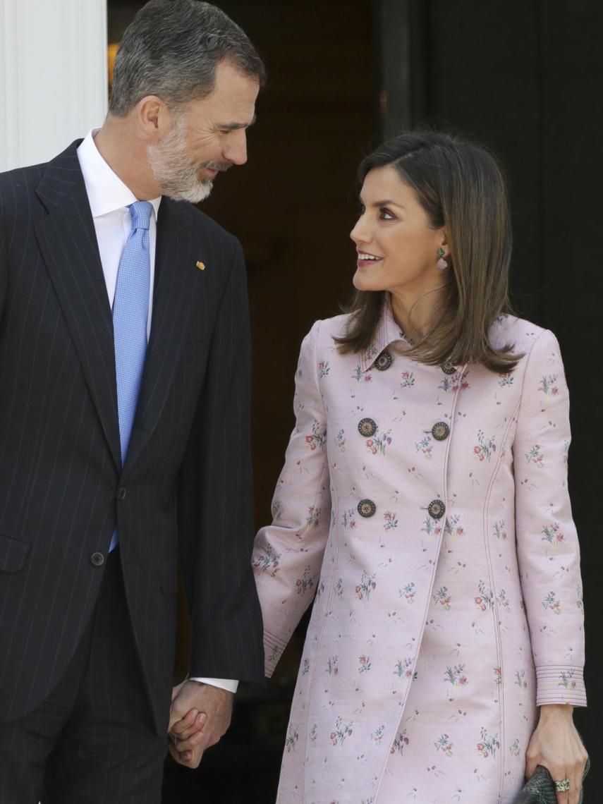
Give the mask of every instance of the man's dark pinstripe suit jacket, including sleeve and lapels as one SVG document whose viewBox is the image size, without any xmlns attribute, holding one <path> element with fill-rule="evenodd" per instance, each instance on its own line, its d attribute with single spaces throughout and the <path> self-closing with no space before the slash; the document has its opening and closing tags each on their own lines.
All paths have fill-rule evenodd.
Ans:
<svg viewBox="0 0 603 804">
<path fill-rule="evenodd" d="M 264 676 L 244 261 L 206 215 L 162 200 L 121 466 L 111 310 L 78 145 L 0 174 L 0 721 L 31 711 L 64 673 L 99 589 L 92 553 L 106 555 L 117 523 L 141 683 L 165 733 L 178 550 L 191 675 Z"/>
</svg>

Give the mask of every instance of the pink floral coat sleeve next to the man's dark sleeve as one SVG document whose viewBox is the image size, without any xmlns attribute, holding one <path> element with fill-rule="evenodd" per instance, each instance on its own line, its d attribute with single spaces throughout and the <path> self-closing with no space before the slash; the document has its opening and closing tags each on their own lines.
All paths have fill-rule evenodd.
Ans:
<svg viewBox="0 0 603 804">
<path fill-rule="evenodd" d="M 296 425 L 274 493 L 273 523 L 256 536 L 252 564 L 264 617 L 265 672 L 272 675 L 316 592 L 330 524 L 326 411 L 318 387 L 316 322 L 301 344 Z"/>
</svg>

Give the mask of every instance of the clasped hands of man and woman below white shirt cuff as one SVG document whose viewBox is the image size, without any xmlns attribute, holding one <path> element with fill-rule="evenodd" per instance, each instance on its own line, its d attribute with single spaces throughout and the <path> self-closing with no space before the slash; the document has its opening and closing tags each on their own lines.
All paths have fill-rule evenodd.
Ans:
<svg viewBox="0 0 603 804">
<path fill-rule="evenodd" d="M 170 754 L 179 765 L 198 768 L 203 751 L 224 735 L 232 716 L 232 692 L 199 681 L 174 687 L 170 709 Z"/>
</svg>

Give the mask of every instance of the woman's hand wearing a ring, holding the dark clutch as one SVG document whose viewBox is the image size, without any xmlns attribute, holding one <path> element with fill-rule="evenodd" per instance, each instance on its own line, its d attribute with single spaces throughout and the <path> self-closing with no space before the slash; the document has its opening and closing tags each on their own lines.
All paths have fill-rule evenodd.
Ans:
<svg viewBox="0 0 603 804">
<path fill-rule="evenodd" d="M 572 720 L 569 704 L 540 707 L 540 719 L 526 752 L 526 778 L 544 765 L 553 781 L 569 779 L 568 793 L 557 793 L 557 804 L 578 804 L 587 753 Z"/>
</svg>

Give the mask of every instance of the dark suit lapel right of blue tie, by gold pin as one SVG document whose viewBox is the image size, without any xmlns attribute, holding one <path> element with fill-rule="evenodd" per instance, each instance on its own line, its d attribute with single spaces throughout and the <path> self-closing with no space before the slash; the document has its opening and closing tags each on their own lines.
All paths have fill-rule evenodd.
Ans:
<svg viewBox="0 0 603 804">
<path fill-rule="evenodd" d="M 193 248 L 186 219 L 183 205 L 162 199 L 157 221 L 153 318 L 126 470 L 140 456 L 158 424 L 187 340 L 191 314 L 199 310 L 203 274 L 195 268 L 199 254 Z"/>
</svg>

